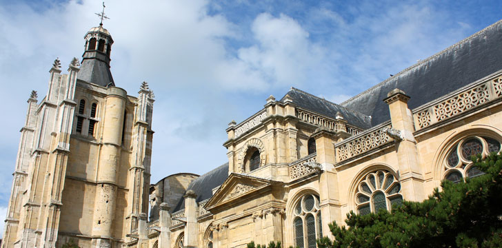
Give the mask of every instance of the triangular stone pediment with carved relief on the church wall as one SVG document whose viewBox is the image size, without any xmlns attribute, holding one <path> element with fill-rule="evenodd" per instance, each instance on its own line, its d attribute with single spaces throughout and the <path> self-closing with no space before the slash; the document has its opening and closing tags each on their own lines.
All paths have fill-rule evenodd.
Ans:
<svg viewBox="0 0 502 248">
<path fill-rule="evenodd" d="M 272 180 L 264 178 L 232 173 L 204 207 L 205 209 L 210 209 L 217 205 L 242 198 L 252 192 L 257 192 L 270 186 L 272 182 Z"/>
</svg>

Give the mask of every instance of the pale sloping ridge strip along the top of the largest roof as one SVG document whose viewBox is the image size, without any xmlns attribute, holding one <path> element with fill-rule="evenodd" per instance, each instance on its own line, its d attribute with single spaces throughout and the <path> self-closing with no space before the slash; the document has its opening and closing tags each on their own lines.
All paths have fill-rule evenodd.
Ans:
<svg viewBox="0 0 502 248">
<path fill-rule="evenodd" d="M 421 61 L 419 61 L 418 63 L 415 63 L 414 65 L 411 65 L 410 67 L 408 68 L 405 68 L 404 70 L 402 70 L 401 72 L 398 72 L 397 74 L 394 74 L 394 76 L 391 76 L 390 78 L 388 79 L 385 79 L 384 81 L 381 81 L 380 83 L 377 83 L 376 85 L 373 85 L 372 87 L 368 88 L 367 90 L 357 94 L 356 96 L 352 96 L 350 99 L 347 99 L 345 101 L 343 101 L 342 103 L 340 103 L 340 105 L 343 105 L 343 104 L 346 104 L 354 99 L 357 99 L 359 96 L 365 94 L 366 92 L 369 92 L 370 90 L 374 90 L 376 87 L 380 87 L 381 85 L 383 85 L 384 83 L 387 83 L 388 81 L 390 81 L 391 79 L 394 79 L 394 77 L 396 76 L 401 76 L 401 74 L 404 74 L 405 72 L 408 72 L 414 68 L 417 68 L 419 67 L 419 65 L 423 65 L 425 62 L 429 62 L 431 61 L 432 59 L 435 59 L 436 57 L 438 57 L 439 55 L 449 51 L 449 50 L 454 50 L 454 48 L 456 46 L 459 46 L 459 45 L 463 45 L 463 43 L 467 43 L 468 41 L 470 41 L 472 38 L 474 37 L 478 37 L 479 35 L 481 35 L 483 32 L 486 32 L 486 30 L 489 30 L 491 28 L 493 28 L 494 26 L 498 25 L 502 23 L 502 19 L 500 19 L 499 21 L 496 21 L 495 23 L 492 23 L 491 25 L 489 25 L 488 27 L 486 28 L 483 28 L 482 30 L 479 30 L 478 32 L 475 32 L 474 34 L 471 34 L 469 37 L 465 38 L 465 39 L 462 39 L 461 41 L 458 41 L 456 43 L 454 43 L 453 45 L 450 45 L 448 48 L 445 48 L 443 50 L 441 50 L 440 52 L 436 52 L 436 54 L 432 55 L 432 56 L 429 56 L 427 59 L 423 59 Z"/>
</svg>

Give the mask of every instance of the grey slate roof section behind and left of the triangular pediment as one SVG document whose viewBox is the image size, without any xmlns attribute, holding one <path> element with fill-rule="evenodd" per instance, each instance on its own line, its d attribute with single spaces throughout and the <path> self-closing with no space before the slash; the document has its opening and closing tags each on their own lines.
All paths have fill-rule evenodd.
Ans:
<svg viewBox="0 0 502 248">
<path fill-rule="evenodd" d="M 195 194 L 197 194 L 197 198 L 195 201 L 197 203 L 207 200 L 212 196 L 212 189 L 221 185 L 228 177 L 228 163 L 225 163 L 212 171 L 199 176 L 195 180 L 188 185 L 188 190 L 192 189 Z M 179 211 L 181 209 L 185 209 L 185 200 L 181 197 L 178 201 L 176 207 L 172 212 Z"/>
</svg>

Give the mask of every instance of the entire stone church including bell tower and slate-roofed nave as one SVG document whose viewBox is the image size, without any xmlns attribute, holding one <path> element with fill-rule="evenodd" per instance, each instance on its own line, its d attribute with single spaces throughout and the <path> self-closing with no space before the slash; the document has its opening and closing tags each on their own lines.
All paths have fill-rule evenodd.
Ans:
<svg viewBox="0 0 502 248">
<path fill-rule="evenodd" d="M 424 200 L 501 151 L 502 21 L 340 104 L 270 96 L 228 124 L 228 161 L 157 183 L 152 90 L 115 85 L 102 25 L 85 42 L 28 99 L 3 247 L 316 247 L 348 212 Z"/>
</svg>

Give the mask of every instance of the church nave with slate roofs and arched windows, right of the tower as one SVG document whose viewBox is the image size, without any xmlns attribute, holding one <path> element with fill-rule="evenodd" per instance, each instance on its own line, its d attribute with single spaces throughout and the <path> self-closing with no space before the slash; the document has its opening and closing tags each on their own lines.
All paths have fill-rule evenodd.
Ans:
<svg viewBox="0 0 502 248">
<path fill-rule="evenodd" d="M 227 163 L 150 187 L 149 247 L 316 247 L 350 211 L 479 176 L 470 155 L 501 151 L 501 41 L 499 21 L 341 104 L 296 88 L 257 103 L 228 125 Z"/>
</svg>

